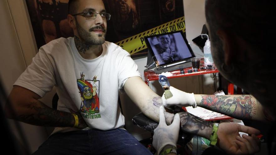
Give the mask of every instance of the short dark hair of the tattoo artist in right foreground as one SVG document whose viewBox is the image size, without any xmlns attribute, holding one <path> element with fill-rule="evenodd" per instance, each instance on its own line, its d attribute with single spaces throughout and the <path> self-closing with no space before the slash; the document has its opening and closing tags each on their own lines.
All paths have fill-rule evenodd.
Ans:
<svg viewBox="0 0 276 155">
<path fill-rule="evenodd" d="M 267 44 L 267 38 L 275 33 L 275 1 L 208 0 L 205 5 L 206 21 L 213 32 L 228 29 L 248 43 L 260 46 Z"/>
</svg>

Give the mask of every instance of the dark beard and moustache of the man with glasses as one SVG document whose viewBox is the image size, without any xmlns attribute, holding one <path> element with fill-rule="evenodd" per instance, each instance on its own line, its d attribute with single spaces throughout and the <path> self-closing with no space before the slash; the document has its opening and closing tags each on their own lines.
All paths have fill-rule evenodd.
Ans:
<svg viewBox="0 0 276 155">
<path fill-rule="evenodd" d="M 98 34 L 98 36 L 93 36 L 88 31 L 86 31 L 85 29 L 83 29 L 78 24 L 77 20 L 76 20 L 76 28 L 77 28 L 77 32 L 79 34 L 80 39 L 82 41 L 84 41 L 86 44 L 91 44 L 91 45 L 101 45 L 101 44 L 104 44 L 106 30 L 104 30 L 104 28 L 102 28 L 101 26 L 95 26 L 95 27 L 89 29 L 89 31 L 93 31 L 93 29 L 95 29 L 95 28 L 102 29 L 103 32 L 104 32 L 104 34 Z"/>
</svg>

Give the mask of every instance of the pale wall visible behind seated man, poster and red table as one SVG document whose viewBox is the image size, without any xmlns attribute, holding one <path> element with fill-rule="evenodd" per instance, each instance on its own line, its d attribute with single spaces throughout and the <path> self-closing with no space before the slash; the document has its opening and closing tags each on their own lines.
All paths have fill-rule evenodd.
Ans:
<svg viewBox="0 0 276 155">
<path fill-rule="evenodd" d="M 204 0 L 184 0 L 186 35 L 191 43 L 196 56 L 203 56 L 203 53 L 192 43 L 192 39 L 199 35 L 202 25 L 205 23 Z M 7 94 L 12 89 L 14 81 L 30 64 L 37 49 L 34 42 L 32 27 L 29 22 L 29 15 L 26 11 L 24 0 L 1 0 L 0 1 L 0 75 Z M 135 59 L 138 70 L 143 75 L 146 65 L 146 58 Z M 186 92 L 211 94 L 214 92 L 213 81 L 210 75 L 195 76 L 187 78 L 170 79 L 173 86 Z M 157 82 L 151 82 L 150 87 L 162 95 L 162 89 Z M 55 90 L 47 94 L 42 101 L 51 106 L 51 99 Z M 149 137 L 150 133 L 134 126 L 131 118 L 140 112 L 134 103 L 125 95 L 120 94 L 123 112 L 126 118 L 126 128 L 138 140 Z M 3 106 L 3 105 L 2 105 Z M 11 121 L 12 125 L 13 122 Z M 31 152 L 34 152 L 39 145 L 45 141 L 51 128 L 37 127 L 20 123 L 30 144 Z M 14 131 L 15 128 L 13 128 Z M 16 134 L 16 132 L 15 132 Z"/>
</svg>

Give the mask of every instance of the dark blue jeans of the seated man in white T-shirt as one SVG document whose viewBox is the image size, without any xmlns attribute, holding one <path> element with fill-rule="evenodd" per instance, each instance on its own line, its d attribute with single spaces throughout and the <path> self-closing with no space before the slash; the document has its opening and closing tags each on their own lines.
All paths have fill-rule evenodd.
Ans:
<svg viewBox="0 0 276 155">
<path fill-rule="evenodd" d="M 81 130 L 51 135 L 33 155 L 98 155 L 98 154 L 151 154 L 129 132 L 123 129 L 109 131 Z"/>
</svg>

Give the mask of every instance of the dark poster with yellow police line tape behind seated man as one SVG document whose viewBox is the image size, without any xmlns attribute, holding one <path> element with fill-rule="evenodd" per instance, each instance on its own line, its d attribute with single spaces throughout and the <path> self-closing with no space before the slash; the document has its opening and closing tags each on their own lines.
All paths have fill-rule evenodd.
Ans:
<svg viewBox="0 0 276 155">
<path fill-rule="evenodd" d="M 67 22 L 69 0 L 26 0 L 38 48 L 53 39 L 73 37 Z M 183 0 L 104 0 L 107 13 L 106 40 L 131 54 L 147 55 L 144 37 L 182 30 Z"/>
</svg>

